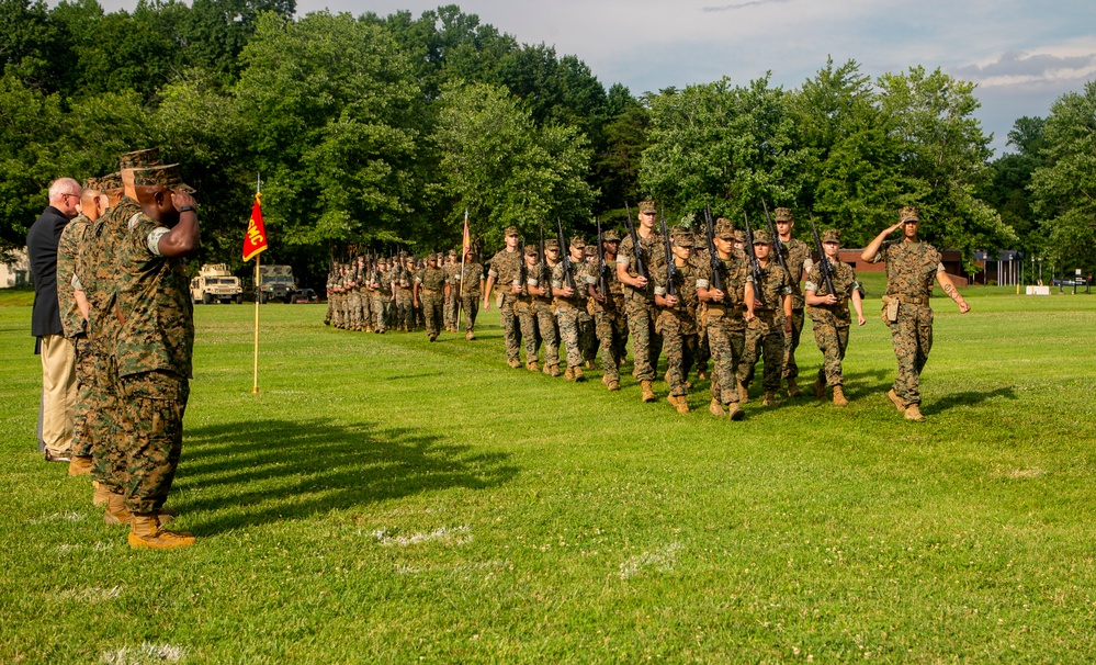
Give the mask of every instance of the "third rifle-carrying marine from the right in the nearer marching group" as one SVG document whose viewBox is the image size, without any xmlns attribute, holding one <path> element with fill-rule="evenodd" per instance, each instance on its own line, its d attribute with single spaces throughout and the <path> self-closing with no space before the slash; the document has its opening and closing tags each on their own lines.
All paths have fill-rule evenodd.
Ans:
<svg viewBox="0 0 1096 665">
<path fill-rule="evenodd" d="M 776 406 L 776 391 L 784 364 L 784 338 L 791 332 L 792 289 L 788 273 L 772 256 L 772 237 L 767 230 L 754 232 L 754 251 L 761 267 L 761 283 L 746 278 L 746 345 L 738 364 L 738 401 L 754 380 L 758 359 L 765 359 L 765 406 Z M 756 297 L 755 297 L 756 294 Z"/>
</svg>

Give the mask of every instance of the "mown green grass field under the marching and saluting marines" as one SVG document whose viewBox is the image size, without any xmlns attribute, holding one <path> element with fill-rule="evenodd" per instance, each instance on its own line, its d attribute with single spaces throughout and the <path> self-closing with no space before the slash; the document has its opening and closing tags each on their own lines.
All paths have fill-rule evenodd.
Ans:
<svg viewBox="0 0 1096 665">
<path fill-rule="evenodd" d="M 937 301 L 912 424 L 869 291 L 851 405 L 743 422 L 511 370 L 494 312 L 431 345 L 265 306 L 252 395 L 252 307 L 199 306 L 177 552 L 35 453 L 2 307 L 0 662 L 1091 662 L 1096 297 Z"/>
</svg>

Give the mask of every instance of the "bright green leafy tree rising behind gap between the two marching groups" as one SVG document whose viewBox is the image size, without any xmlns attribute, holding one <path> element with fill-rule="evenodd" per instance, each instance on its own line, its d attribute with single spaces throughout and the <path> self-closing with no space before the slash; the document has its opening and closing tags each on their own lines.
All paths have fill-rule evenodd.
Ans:
<svg viewBox="0 0 1096 665">
<path fill-rule="evenodd" d="M 539 223 L 585 222 L 594 192 L 586 182 L 589 149 L 577 128 L 538 128 L 505 88 L 486 83 L 443 90 L 436 140 L 454 195 L 452 225 L 464 210 L 477 235 L 499 244 L 516 225 L 527 238 Z"/>
</svg>

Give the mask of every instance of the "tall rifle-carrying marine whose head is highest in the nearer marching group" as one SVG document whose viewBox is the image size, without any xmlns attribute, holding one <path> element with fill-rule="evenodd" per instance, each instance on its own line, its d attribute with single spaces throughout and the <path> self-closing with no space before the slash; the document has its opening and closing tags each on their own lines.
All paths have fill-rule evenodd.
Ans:
<svg viewBox="0 0 1096 665">
<path fill-rule="evenodd" d="M 642 386 L 642 399 L 656 399 L 651 382 L 655 380 L 662 338 L 655 330 L 658 308 L 655 307 L 655 285 L 651 275 L 658 269 L 657 257 L 663 251 L 663 238 L 655 233 L 655 202 L 640 202 L 639 227 L 635 229 L 640 247 L 636 248 L 629 235 L 620 244 L 617 255 L 617 279 L 624 284 L 624 304 L 628 313 L 628 329 L 632 336 L 632 374 Z M 637 272 L 636 249 L 639 249 L 646 277 Z"/>
</svg>

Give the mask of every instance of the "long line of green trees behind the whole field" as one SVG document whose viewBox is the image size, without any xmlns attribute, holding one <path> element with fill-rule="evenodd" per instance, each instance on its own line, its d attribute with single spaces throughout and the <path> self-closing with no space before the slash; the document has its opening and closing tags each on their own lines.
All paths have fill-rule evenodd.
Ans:
<svg viewBox="0 0 1096 665">
<path fill-rule="evenodd" d="M 160 146 L 202 202 L 195 261 L 239 267 L 261 181 L 272 248 L 316 284 L 331 258 L 459 243 L 511 224 L 622 226 L 653 196 L 670 223 L 762 202 L 867 243 L 918 205 L 941 246 L 1020 248 L 1091 269 L 1096 82 L 1019 119 L 992 159 L 974 86 L 913 66 L 826 63 L 800 87 L 724 78 L 633 94 L 456 5 L 413 16 L 293 0 L 0 0 L 0 250 L 22 246 L 59 176 Z M 1060 263 L 1060 264 L 1062 264 Z"/>
</svg>

